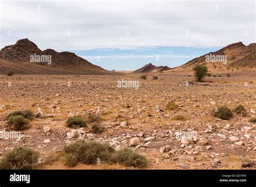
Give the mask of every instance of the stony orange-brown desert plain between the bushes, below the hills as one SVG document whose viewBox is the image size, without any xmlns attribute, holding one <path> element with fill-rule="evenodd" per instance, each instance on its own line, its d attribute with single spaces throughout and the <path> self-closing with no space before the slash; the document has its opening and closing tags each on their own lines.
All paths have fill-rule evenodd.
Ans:
<svg viewBox="0 0 256 187">
<path fill-rule="evenodd" d="M 79 138 L 136 149 L 150 161 L 145 169 L 243 169 L 242 163 L 255 161 L 256 124 L 248 119 L 256 116 L 256 73 L 206 77 L 203 83 L 185 74 L 157 76 L 0 75 L 0 131 L 9 130 L 5 117 L 12 111 L 43 112 L 21 139 L 1 140 L 1 155 L 8 148 L 29 146 L 40 152 L 43 169 L 131 169 L 105 163 L 64 166 L 63 147 Z M 139 89 L 118 88 L 122 79 L 139 81 Z M 166 110 L 169 101 L 178 109 Z M 238 104 L 248 116 L 222 120 L 211 114 L 217 106 L 233 109 Z M 102 117 L 105 131 L 92 134 L 80 128 L 78 136 L 68 137 L 72 129 L 65 120 L 89 113 Z M 174 120 L 177 114 L 186 119 Z M 181 133 L 191 132 L 197 140 L 181 142 Z M 133 137 L 139 145 L 130 145 Z"/>
</svg>

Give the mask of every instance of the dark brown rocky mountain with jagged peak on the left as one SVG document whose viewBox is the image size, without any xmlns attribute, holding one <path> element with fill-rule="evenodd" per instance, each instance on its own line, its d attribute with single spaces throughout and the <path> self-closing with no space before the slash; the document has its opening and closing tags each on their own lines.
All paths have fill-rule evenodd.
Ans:
<svg viewBox="0 0 256 187">
<path fill-rule="evenodd" d="M 18 40 L 15 45 L 1 49 L 0 67 L 0 74 L 10 68 L 14 69 L 16 74 L 118 74 L 93 65 L 75 53 L 58 53 L 53 49 L 41 51 L 29 39 Z"/>
</svg>

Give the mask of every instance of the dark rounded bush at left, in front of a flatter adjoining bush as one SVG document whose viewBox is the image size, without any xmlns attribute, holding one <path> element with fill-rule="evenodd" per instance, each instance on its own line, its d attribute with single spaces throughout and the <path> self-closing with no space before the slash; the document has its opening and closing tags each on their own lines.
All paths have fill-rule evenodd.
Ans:
<svg viewBox="0 0 256 187">
<path fill-rule="evenodd" d="M 14 130 L 23 130 L 29 128 L 29 122 L 23 116 L 11 116 L 8 118 L 7 124 Z"/>
</svg>

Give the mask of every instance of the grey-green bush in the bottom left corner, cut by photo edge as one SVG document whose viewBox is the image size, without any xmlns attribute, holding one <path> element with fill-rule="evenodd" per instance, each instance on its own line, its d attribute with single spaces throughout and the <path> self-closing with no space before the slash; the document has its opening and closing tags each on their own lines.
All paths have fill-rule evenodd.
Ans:
<svg viewBox="0 0 256 187">
<path fill-rule="evenodd" d="M 6 150 L 0 161 L 0 169 L 36 169 L 39 154 L 28 147 Z"/>
</svg>

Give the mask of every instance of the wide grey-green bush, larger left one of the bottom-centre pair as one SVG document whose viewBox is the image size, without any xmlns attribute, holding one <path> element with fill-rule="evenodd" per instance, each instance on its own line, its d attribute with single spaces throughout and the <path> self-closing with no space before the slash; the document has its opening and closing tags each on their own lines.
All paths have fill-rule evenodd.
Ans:
<svg viewBox="0 0 256 187">
<path fill-rule="evenodd" d="M 78 162 L 84 164 L 96 164 L 100 162 L 111 162 L 114 149 L 106 143 L 91 140 L 77 140 L 64 147 L 66 154 L 66 166 L 75 166 Z"/>
</svg>

